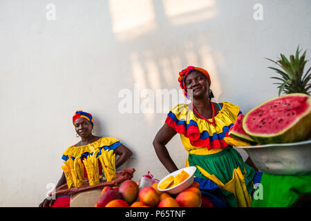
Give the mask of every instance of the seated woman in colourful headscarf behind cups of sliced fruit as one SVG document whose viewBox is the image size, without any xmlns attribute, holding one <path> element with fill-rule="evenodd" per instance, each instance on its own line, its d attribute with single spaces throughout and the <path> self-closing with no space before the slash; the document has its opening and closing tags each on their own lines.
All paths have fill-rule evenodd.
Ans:
<svg viewBox="0 0 311 221">
<path fill-rule="evenodd" d="M 115 168 L 120 167 L 126 162 L 126 160 L 131 157 L 132 152 L 120 143 L 119 140 L 113 137 L 97 137 L 93 135 L 93 126 L 94 120 L 90 113 L 83 111 L 76 111 L 73 115 L 73 125 L 75 126 L 75 131 L 77 137 L 81 137 L 81 141 L 73 146 L 69 146 L 62 156 L 62 160 L 65 162 L 68 160 L 68 157 L 71 156 L 73 160 L 76 157 L 80 157 L 81 160 L 84 160 L 88 155 L 99 149 L 100 152 L 97 153 L 97 156 L 102 153 L 102 151 L 113 150 L 116 155 L 119 155 L 115 161 Z M 87 177 L 86 171 L 84 168 L 84 176 Z M 102 166 L 100 165 L 100 174 L 102 174 Z M 62 186 L 66 183 L 66 176 L 64 172 L 62 177 L 56 185 L 56 188 Z M 62 196 L 55 200 L 47 200 L 41 202 L 39 206 L 70 206 L 70 195 Z"/>
</svg>

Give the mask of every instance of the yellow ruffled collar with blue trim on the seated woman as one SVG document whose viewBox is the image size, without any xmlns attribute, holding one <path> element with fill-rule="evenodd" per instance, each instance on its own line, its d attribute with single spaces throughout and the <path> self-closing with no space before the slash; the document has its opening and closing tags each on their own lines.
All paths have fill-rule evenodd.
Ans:
<svg viewBox="0 0 311 221">
<path fill-rule="evenodd" d="M 97 153 L 98 156 L 102 153 L 102 149 L 104 149 L 104 151 L 106 151 L 107 149 L 114 151 L 115 148 L 117 148 L 121 144 L 122 143 L 120 142 L 120 140 L 117 140 L 114 137 L 101 137 L 99 140 L 84 146 L 69 146 L 63 153 L 62 160 L 67 161 L 69 155 L 73 158 L 73 160 L 76 157 L 84 158 L 88 155 L 92 155 L 92 153 L 96 149 L 100 149 L 100 152 Z"/>
</svg>

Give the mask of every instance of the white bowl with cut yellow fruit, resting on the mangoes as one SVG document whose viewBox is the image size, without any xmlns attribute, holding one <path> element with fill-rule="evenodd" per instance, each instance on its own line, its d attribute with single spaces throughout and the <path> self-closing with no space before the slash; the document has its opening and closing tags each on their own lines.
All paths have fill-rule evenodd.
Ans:
<svg viewBox="0 0 311 221">
<path fill-rule="evenodd" d="M 158 190 L 171 194 L 180 193 L 187 189 L 194 182 L 194 173 L 196 172 L 196 166 L 188 166 L 169 175 L 160 180 L 158 184 Z"/>
</svg>

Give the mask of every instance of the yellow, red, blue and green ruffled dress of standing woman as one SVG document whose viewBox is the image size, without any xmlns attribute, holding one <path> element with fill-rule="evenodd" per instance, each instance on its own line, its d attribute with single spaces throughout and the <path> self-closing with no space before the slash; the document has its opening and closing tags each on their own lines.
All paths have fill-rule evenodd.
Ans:
<svg viewBox="0 0 311 221">
<path fill-rule="evenodd" d="M 178 104 L 165 120 L 180 134 L 189 153 L 186 166 L 197 167 L 195 181 L 214 206 L 252 206 L 256 171 L 223 140 L 240 113 L 238 106 L 224 102 L 213 126 L 196 117 L 187 104 Z"/>
</svg>

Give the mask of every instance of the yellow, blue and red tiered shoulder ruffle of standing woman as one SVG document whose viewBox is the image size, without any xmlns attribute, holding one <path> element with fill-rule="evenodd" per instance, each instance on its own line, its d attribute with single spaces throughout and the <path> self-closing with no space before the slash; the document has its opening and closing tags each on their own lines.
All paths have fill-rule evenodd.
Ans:
<svg viewBox="0 0 311 221">
<path fill-rule="evenodd" d="M 196 117 L 187 104 L 178 104 L 169 111 L 165 123 L 177 133 L 187 137 L 192 146 L 208 149 L 225 148 L 228 144 L 223 138 L 240 113 L 238 106 L 224 102 L 223 108 L 215 116 L 216 126 L 213 126 L 204 119 Z"/>
</svg>

